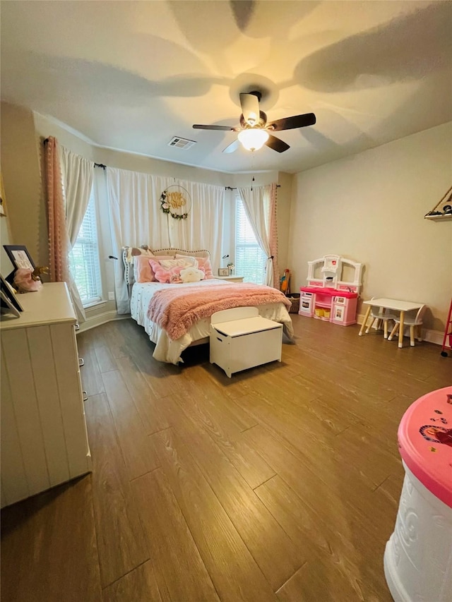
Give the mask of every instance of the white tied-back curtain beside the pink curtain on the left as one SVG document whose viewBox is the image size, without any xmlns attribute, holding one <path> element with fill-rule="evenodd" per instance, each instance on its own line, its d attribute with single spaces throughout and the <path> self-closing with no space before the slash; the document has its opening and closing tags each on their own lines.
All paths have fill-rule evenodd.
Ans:
<svg viewBox="0 0 452 602">
<path fill-rule="evenodd" d="M 61 176 L 63 178 L 63 193 L 66 205 L 66 229 L 72 248 L 76 243 L 78 231 L 90 200 L 91 188 L 93 187 L 94 162 L 61 147 Z M 85 309 L 71 274 L 69 274 L 68 287 L 78 320 L 85 321 Z"/>
</svg>

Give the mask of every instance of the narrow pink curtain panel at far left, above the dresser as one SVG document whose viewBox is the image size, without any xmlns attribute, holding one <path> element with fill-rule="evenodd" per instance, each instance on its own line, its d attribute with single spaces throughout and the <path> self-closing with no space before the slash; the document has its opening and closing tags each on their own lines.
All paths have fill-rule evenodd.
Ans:
<svg viewBox="0 0 452 602">
<path fill-rule="evenodd" d="M 49 136 L 46 148 L 49 271 L 52 282 L 69 282 L 69 236 L 66 230 L 63 180 L 58 140 Z"/>
</svg>

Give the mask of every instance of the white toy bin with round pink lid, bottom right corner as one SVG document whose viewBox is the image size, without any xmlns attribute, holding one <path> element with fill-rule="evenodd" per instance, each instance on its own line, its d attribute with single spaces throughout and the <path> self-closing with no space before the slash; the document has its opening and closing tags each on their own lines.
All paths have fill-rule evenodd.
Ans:
<svg viewBox="0 0 452 602">
<path fill-rule="evenodd" d="M 384 571 L 397 601 L 452 600 L 452 386 L 417 399 L 403 415 L 405 469 Z"/>
</svg>

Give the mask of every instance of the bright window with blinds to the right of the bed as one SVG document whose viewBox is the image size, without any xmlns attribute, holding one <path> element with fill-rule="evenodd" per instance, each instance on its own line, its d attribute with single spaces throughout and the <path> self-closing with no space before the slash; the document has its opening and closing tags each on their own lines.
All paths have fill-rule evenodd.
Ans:
<svg viewBox="0 0 452 602">
<path fill-rule="evenodd" d="M 239 197 L 236 197 L 235 210 L 235 273 L 243 276 L 244 282 L 263 284 L 267 257 L 256 241 L 242 199 Z"/>
</svg>

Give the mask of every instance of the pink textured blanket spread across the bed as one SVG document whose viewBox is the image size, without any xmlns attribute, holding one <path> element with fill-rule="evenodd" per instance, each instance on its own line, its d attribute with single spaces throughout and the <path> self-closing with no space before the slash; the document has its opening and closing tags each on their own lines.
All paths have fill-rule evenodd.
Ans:
<svg viewBox="0 0 452 602">
<path fill-rule="evenodd" d="M 261 284 L 213 284 L 210 287 L 182 288 L 155 292 L 150 299 L 148 318 L 164 328 L 173 340 L 179 339 L 201 318 L 232 307 L 291 302 L 281 291 Z"/>
</svg>

